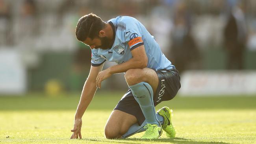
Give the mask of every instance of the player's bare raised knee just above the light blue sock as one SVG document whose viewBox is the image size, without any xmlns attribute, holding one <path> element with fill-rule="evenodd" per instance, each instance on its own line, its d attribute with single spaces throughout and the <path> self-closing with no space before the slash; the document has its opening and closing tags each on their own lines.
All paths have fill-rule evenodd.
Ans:
<svg viewBox="0 0 256 144">
<path fill-rule="evenodd" d="M 144 81 L 143 69 L 136 68 L 127 70 L 124 75 L 128 85 L 135 85 Z"/>
</svg>

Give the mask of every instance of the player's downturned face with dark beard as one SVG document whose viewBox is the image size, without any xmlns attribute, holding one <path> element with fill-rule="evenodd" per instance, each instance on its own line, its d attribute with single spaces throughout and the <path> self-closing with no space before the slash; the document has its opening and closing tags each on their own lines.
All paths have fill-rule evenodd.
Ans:
<svg viewBox="0 0 256 144">
<path fill-rule="evenodd" d="M 112 47 L 111 39 L 107 37 L 95 37 L 94 39 L 87 37 L 83 43 L 90 46 L 91 49 L 108 49 Z"/>
</svg>

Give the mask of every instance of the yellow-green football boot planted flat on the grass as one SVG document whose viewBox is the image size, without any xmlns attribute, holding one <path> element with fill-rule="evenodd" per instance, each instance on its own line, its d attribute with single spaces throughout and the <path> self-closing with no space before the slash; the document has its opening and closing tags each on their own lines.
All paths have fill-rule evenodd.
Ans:
<svg viewBox="0 0 256 144">
<path fill-rule="evenodd" d="M 147 130 L 145 131 L 145 134 L 141 137 L 141 139 L 157 139 L 159 138 L 162 133 L 162 127 L 156 125 L 156 124 L 147 124 L 144 126 Z"/>
</svg>

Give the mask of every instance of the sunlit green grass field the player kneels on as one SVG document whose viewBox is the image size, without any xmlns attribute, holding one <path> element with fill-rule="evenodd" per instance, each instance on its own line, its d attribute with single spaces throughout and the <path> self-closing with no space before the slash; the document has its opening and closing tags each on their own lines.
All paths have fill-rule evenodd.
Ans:
<svg viewBox="0 0 256 144">
<path fill-rule="evenodd" d="M 98 92 L 83 116 L 82 140 L 70 140 L 79 94 L 0 97 L 0 143 L 28 144 L 253 144 L 256 143 L 256 97 L 181 97 L 163 106 L 173 109 L 176 138 L 108 140 L 104 125 L 121 92 Z"/>
</svg>

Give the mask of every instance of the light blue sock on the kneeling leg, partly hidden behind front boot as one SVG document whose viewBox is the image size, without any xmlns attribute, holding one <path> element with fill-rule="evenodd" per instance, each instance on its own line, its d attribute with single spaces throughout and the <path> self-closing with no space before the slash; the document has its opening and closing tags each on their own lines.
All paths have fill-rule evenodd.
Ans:
<svg viewBox="0 0 256 144">
<path fill-rule="evenodd" d="M 159 122 L 161 125 L 163 125 L 163 116 L 160 116 L 158 113 L 156 114 Z M 146 120 L 144 120 L 144 122 L 141 124 L 141 126 L 139 126 L 139 124 L 134 124 L 132 125 L 128 131 L 121 137 L 121 138 L 128 138 L 132 135 L 135 135 L 136 133 L 141 133 L 143 131 L 146 131 L 146 129 L 144 128 L 144 126 L 146 126 L 147 122 Z"/>
</svg>

